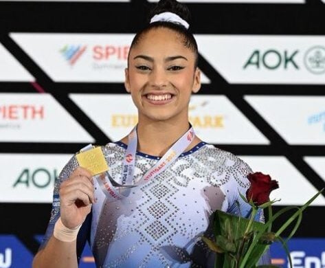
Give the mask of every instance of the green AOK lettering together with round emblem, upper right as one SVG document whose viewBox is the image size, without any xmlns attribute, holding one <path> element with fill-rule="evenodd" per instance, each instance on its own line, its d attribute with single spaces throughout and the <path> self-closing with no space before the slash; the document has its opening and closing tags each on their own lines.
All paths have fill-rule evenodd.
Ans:
<svg viewBox="0 0 325 268">
<path fill-rule="evenodd" d="M 298 57 L 304 53 L 303 65 L 311 74 L 325 73 L 325 47 L 313 46 L 301 52 L 300 49 L 255 49 L 243 65 L 243 69 L 295 69 L 300 70 L 302 63 Z"/>
</svg>

